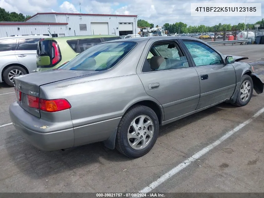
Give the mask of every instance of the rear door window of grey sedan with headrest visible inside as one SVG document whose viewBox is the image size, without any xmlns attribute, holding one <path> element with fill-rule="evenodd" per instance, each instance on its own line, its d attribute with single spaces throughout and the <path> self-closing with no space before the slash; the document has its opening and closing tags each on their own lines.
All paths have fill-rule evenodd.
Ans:
<svg viewBox="0 0 264 198">
<path fill-rule="evenodd" d="M 144 62 L 142 72 L 189 67 L 185 54 L 175 42 L 154 44 Z"/>
</svg>

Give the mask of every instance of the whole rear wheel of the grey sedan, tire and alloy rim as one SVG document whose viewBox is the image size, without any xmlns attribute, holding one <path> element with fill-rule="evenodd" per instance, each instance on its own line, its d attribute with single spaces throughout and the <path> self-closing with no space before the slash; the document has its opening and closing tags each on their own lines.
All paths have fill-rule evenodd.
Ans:
<svg viewBox="0 0 264 198">
<path fill-rule="evenodd" d="M 135 105 L 119 123 L 116 148 L 128 157 L 141 157 L 152 149 L 158 133 L 159 121 L 156 113 L 147 106 Z"/>
</svg>

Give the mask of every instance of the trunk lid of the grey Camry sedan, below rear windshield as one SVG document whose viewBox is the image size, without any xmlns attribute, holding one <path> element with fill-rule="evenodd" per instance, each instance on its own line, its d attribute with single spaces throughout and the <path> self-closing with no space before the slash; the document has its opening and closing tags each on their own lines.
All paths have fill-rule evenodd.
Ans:
<svg viewBox="0 0 264 198">
<path fill-rule="evenodd" d="M 29 100 L 34 99 L 34 97 L 39 97 L 39 87 L 41 85 L 72 79 L 97 72 L 98 71 L 48 70 L 45 72 L 37 72 L 15 77 L 15 89 L 21 91 L 21 100 L 18 101 L 18 103 L 28 113 L 40 118 L 40 110 L 29 107 Z"/>
</svg>

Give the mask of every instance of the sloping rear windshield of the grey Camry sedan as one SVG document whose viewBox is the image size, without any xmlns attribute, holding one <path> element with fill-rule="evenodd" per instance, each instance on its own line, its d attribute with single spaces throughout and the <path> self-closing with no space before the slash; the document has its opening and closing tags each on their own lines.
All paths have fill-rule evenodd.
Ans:
<svg viewBox="0 0 264 198">
<path fill-rule="evenodd" d="M 113 42 L 95 45 L 58 69 L 102 71 L 115 66 L 134 47 L 135 42 Z"/>
</svg>

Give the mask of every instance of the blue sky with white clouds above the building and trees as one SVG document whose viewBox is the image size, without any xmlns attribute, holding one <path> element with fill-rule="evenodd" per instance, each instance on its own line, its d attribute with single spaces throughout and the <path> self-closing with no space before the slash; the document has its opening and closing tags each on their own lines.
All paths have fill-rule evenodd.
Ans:
<svg viewBox="0 0 264 198">
<path fill-rule="evenodd" d="M 255 23 L 264 16 L 264 0 L 0 0 L 0 7 L 9 12 L 33 15 L 37 12 L 80 12 L 95 14 L 138 15 L 154 25 L 183 22 L 188 25 L 215 25 L 218 23 L 243 23 L 245 17 L 192 17 L 191 3 L 262 3 L 262 16 L 247 17 L 247 23 Z"/>
</svg>

